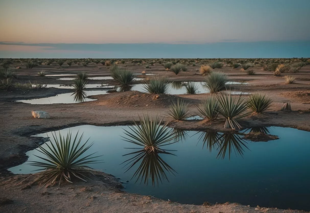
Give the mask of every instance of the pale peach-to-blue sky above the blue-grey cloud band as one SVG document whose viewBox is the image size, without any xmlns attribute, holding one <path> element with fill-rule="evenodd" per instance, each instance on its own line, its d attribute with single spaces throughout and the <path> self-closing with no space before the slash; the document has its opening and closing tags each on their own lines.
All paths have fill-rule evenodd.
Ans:
<svg viewBox="0 0 310 213">
<path fill-rule="evenodd" d="M 0 0 L 0 41 L 310 40 L 310 0 Z"/>
</svg>

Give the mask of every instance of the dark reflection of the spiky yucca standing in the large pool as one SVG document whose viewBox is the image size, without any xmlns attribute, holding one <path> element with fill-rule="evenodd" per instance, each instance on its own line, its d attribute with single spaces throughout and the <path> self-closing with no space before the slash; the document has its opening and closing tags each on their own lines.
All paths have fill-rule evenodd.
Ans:
<svg viewBox="0 0 310 213">
<path fill-rule="evenodd" d="M 172 151 L 172 150 L 169 150 Z M 141 149 L 136 152 L 131 152 L 129 154 L 123 155 L 133 155 L 134 157 L 124 161 L 122 164 L 126 163 L 124 167 L 126 167 L 125 172 L 130 170 L 134 165 L 139 165 L 135 173 L 133 174 L 132 178 L 135 178 L 137 183 L 140 180 L 140 184 L 142 181 L 144 184 L 148 185 L 149 179 L 151 179 L 152 185 L 159 184 L 159 181 L 162 183 L 164 180 L 168 180 L 167 174 L 170 173 L 175 175 L 176 171 L 168 165 L 160 155 L 168 154 L 168 155 L 175 155 L 170 152 L 166 152 L 164 150 L 156 150 L 155 152 L 148 152 L 145 149 Z M 123 167 L 123 168 L 124 168 Z"/>
</svg>

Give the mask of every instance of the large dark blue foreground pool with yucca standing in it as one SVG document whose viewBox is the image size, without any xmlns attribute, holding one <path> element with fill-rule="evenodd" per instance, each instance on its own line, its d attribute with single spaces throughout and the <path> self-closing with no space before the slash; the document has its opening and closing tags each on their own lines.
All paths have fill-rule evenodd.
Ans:
<svg viewBox="0 0 310 213">
<path fill-rule="evenodd" d="M 269 131 L 269 134 L 278 135 L 279 139 L 250 142 L 242 139 L 241 132 L 223 134 L 175 129 L 175 134 L 181 134 L 182 140 L 164 147 L 175 150 L 169 151 L 174 155 L 160 153 L 149 159 L 156 163 L 160 157 L 173 169 L 171 172 L 163 169 L 166 178 L 157 174 L 162 178 L 162 183 L 158 181 L 157 185 L 155 181 L 153 186 L 151 177 L 148 178 L 148 185 L 144 184 L 144 179 L 132 178 L 141 161 L 125 172 L 127 166 L 122 163 L 133 155 L 123 155 L 136 151 L 125 148 L 137 146 L 122 140 L 121 136 L 125 136 L 122 128 L 129 130 L 127 126 L 92 125 L 70 130 L 73 135 L 78 130 L 80 134 L 83 132 L 85 140 L 91 137 L 94 145 L 88 153 L 97 152 L 97 155 L 103 155 L 100 159 L 104 160 L 104 163 L 94 164 L 93 167 L 120 177 L 125 182 L 125 190 L 130 193 L 187 204 L 237 202 L 251 206 L 310 210 L 310 132 L 283 127 L 254 128 L 247 132 Z M 60 132 L 67 134 L 68 130 L 62 129 Z M 48 135 L 51 136 L 51 133 Z M 47 134 L 36 136 L 47 137 Z M 46 144 L 42 146 L 46 147 Z M 26 154 L 28 161 L 40 160 L 33 156 L 40 155 L 37 150 Z M 37 169 L 27 163 L 12 167 L 10 171 L 28 174 Z"/>
</svg>

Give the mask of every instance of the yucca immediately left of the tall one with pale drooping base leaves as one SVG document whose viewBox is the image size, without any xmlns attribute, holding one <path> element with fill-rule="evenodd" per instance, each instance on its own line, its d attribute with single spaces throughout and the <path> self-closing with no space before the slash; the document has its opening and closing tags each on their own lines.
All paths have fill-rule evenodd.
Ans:
<svg viewBox="0 0 310 213">
<path fill-rule="evenodd" d="M 197 109 L 207 120 L 215 120 L 219 116 L 219 101 L 216 96 L 207 97 Z"/>
</svg>

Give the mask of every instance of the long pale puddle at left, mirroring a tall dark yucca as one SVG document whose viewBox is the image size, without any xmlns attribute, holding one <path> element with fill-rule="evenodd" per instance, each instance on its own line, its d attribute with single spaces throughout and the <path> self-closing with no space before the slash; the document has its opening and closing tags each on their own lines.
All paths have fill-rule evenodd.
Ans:
<svg viewBox="0 0 310 213">
<path fill-rule="evenodd" d="M 106 94 L 107 90 L 94 90 L 94 91 L 80 91 L 74 93 L 63 93 L 51 97 L 42 97 L 29 100 L 19 100 L 16 102 L 30 103 L 30 104 L 55 104 L 55 103 L 80 103 L 95 101 L 96 99 L 88 98 L 90 95 Z"/>
</svg>

